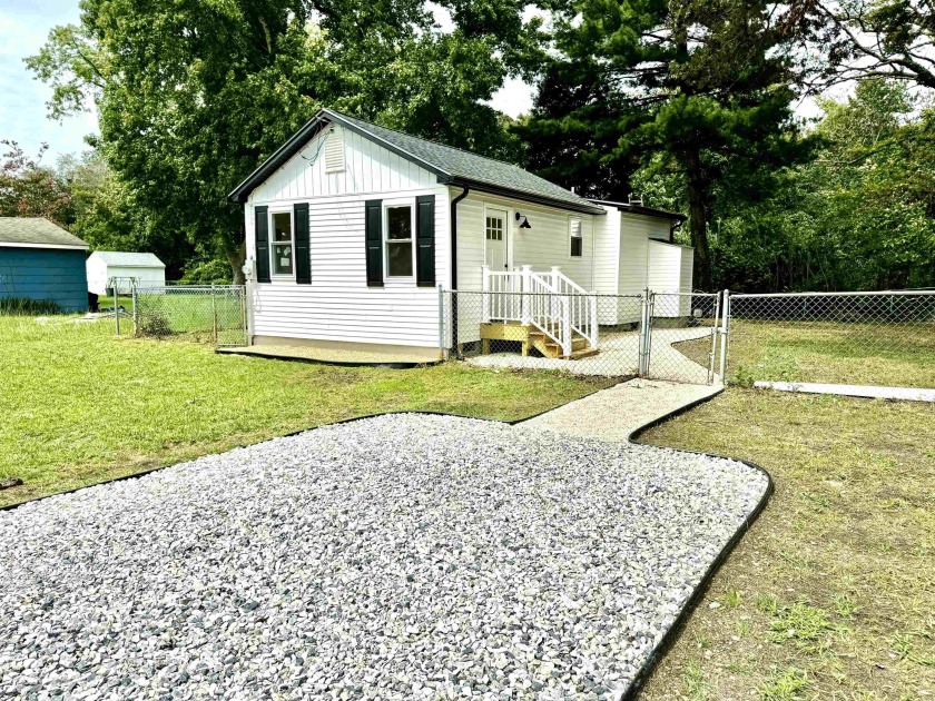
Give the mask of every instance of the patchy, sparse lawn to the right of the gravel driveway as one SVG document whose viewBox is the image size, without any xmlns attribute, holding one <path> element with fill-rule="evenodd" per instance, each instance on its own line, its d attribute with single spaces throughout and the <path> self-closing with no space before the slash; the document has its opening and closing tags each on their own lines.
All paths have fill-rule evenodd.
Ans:
<svg viewBox="0 0 935 701">
<path fill-rule="evenodd" d="M 935 698 L 935 406 L 730 388 L 642 441 L 776 483 L 642 700 Z"/>
</svg>

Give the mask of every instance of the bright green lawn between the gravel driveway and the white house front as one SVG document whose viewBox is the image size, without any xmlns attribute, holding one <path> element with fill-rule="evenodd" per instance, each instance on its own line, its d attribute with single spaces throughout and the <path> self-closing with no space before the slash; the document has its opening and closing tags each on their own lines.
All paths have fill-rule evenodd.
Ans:
<svg viewBox="0 0 935 701">
<path fill-rule="evenodd" d="M 364 414 L 434 409 L 514 419 L 607 386 L 446 364 L 342 368 L 114 336 L 112 319 L 0 317 L 0 505 Z"/>
</svg>

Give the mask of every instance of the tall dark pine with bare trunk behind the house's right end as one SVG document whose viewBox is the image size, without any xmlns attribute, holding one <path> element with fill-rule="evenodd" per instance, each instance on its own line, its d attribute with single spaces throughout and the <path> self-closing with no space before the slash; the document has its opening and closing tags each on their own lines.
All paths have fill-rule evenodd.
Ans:
<svg viewBox="0 0 935 701">
<path fill-rule="evenodd" d="M 719 179 L 730 170 L 757 197 L 770 170 L 803 154 L 790 109 L 796 16 L 758 0 L 568 0 L 555 23 L 547 76 L 560 85 L 541 83 L 522 134 L 549 137 L 553 168 L 580 160 L 591 192 L 628 191 L 637 165 L 678 175 L 696 277 L 710 287 Z"/>
</svg>

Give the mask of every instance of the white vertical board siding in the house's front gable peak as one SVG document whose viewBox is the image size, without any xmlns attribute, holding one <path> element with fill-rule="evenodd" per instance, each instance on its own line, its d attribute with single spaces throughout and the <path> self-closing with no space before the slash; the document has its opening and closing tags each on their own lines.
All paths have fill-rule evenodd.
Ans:
<svg viewBox="0 0 935 701">
<path fill-rule="evenodd" d="M 344 170 L 327 172 L 324 144 L 344 139 Z M 363 192 L 394 192 L 435 187 L 434 174 L 348 129 L 325 130 L 257 187 L 254 204 Z"/>
</svg>

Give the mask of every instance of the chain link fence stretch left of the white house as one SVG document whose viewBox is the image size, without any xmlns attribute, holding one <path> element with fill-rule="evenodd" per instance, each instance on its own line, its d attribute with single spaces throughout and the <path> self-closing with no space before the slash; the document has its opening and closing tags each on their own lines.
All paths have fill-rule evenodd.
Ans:
<svg viewBox="0 0 935 701">
<path fill-rule="evenodd" d="M 246 295 L 239 285 L 135 287 L 132 320 L 137 336 L 247 345 Z"/>
</svg>

